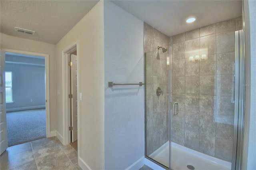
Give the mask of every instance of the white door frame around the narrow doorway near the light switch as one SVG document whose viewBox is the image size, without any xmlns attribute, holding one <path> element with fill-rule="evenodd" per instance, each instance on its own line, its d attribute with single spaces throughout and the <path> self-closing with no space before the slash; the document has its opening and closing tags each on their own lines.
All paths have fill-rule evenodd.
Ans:
<svg viewBox="0 0 256 170">
<path fill-rule="evenodd" d="M 77 96 L 79 96 L 79 41 L 71 43 L 62 50 L 62 110 L 63 110 L 63 144 L 69 144 L 71 142 L 71 131 L 68 130 L 70 126 L 70 112 L 68 111 L 68 55 L 74 51 L 77 51 Z M 78 126 L 78 155 L 79 155 L 79 117 L 80 117 L 80 102 L 77 101 L 77 126 Z"/>
</svg>

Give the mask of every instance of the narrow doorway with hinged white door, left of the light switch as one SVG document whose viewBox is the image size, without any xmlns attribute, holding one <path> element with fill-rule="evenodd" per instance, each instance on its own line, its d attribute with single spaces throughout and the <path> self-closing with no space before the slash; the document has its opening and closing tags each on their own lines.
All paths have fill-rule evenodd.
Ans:
<svg viewBox="0 0 256 170">
<path fill-rule="evenodd" d="M 82 100 L 78 83 L 78 51 L 78 42 L 72 43 L 62 51 L 63 144 L 75 145 L 76 150 L 79 150 L 79 101 Z"/>
</svg>

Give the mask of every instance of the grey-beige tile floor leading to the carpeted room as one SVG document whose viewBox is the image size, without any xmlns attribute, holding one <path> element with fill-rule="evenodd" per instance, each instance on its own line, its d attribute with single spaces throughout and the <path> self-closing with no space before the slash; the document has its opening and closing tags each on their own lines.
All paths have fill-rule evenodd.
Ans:
<svg viewBox="0 0 256 170">
<path fill-rule="evenodd" d="M 0 159 L 1 170 L 82 170 L 77 151 L 56 136 L 11 146 Z"/>
</svg>

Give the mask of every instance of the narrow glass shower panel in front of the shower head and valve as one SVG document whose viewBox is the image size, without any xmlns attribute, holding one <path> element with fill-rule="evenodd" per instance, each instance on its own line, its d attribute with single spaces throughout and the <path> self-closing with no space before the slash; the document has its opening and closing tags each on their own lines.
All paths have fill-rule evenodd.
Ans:
<svg viewBox="0 0 256 170">
<path fill-rule="evenodd" d="M 169 168 L 169 50 L 145 53 L 146 156 Z"/>
</svg>

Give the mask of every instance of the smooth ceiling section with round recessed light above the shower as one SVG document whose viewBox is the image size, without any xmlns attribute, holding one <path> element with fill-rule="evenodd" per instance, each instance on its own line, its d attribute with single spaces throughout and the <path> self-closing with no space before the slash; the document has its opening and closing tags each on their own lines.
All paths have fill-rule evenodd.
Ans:
<svg viewBox="0 0 256 170">
<path fill-rule="evenodd" d="M 241 0 L 112 0 L 167 36 L 240 17 Z M 185 19 L 196 16 L 194 23 Z"/>
</svg>

